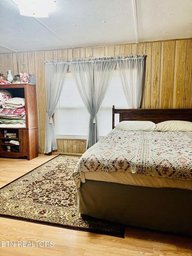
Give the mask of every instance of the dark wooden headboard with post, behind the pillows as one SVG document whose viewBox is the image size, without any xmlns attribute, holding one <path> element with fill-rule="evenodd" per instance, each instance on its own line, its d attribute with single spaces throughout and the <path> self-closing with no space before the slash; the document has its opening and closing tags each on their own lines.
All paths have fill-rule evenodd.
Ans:
<svg viewBox="0 0 192 256">
<path fill-rule="evenodd" d="M 115 109 L 112 110 L 112 127 L 115 128 L 115 114 L 119 114 L 121 121 L 152 121 L 160 123 L 168 120 L 192 122 L 192 108 L 172 109 Z"/>
</svg>

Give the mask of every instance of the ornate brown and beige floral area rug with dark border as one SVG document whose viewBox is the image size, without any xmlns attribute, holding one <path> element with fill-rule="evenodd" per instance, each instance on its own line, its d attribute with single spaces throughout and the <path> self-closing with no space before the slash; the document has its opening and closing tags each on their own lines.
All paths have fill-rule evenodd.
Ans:
<svg viewBox="0 0 192 256">
<path fill-rule="evenodd" d="M 0 216 L 124 237 L 125 225 L 81 215 L 72 178 L 79 156 L 58 155 L 0 189 Z"/>
</svg>

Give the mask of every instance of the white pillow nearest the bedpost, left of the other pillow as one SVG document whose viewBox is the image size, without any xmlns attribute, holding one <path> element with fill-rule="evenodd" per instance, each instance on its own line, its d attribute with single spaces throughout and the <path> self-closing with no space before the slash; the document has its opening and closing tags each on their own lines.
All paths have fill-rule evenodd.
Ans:
<svg viewBox="0 0 192 256">
<path fill-rule="evenodd" d="M 122 121 L 115 127 L 124 131 L 156 131 L 156 124 L 151 121 Z"/>
</svg>

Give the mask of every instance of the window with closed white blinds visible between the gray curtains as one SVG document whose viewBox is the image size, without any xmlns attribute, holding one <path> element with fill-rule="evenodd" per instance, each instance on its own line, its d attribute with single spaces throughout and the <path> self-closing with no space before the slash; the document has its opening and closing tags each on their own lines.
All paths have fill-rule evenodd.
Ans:
<svg viewBox="0 0 192 256">
<path fill-rule="evenodd" d="M 112 130 L 112 107 L 128 108 L 118 70 L 113 76 L 97 115 L 100 136 Z M 66 74 L 63 90 L 55 110 L 55 132 L 57 138 L 86 139 L 90 115 L 79 96 L 71 73 Z M 115 114 L 115 124 L 119 115 Z"/>
</svg>

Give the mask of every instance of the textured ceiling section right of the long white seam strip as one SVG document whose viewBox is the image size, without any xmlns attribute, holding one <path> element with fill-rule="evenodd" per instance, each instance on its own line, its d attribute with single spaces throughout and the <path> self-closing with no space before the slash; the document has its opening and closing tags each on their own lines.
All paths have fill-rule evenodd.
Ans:
<svg viewBox="0 0 192 256">
<path fill-rule="evenodd" d="M 192 37 L 192 0 L 137 0 L 140 41 Z"/>
</svg>

